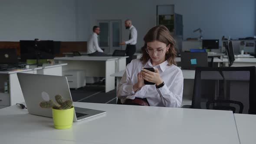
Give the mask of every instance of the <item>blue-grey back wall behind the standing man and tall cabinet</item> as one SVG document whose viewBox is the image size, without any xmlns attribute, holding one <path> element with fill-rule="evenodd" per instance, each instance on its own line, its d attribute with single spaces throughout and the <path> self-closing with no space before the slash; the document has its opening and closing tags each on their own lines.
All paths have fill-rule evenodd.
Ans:
<svg viewBox="0 0 256 144">
<path fill-rule="evenodd" d="M 137 49 L 143 45 L 143 36 L 156 26 L 156 5 L 174 4 L 175 13 L 183 15 L 184 39 L 197 37 L 194 29 L 201 28 L 205 39 L 224 36 L 239 37 L 256 34 L 255 0 L 91 0 L 90 26 L 97 20 L 131 19 L 138 30 Z M 122 39 L 128 31 L 122 23 Z M 125 48 L 125 47 L 123 47 Z"/>
</svg>

